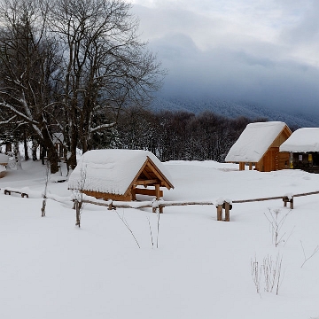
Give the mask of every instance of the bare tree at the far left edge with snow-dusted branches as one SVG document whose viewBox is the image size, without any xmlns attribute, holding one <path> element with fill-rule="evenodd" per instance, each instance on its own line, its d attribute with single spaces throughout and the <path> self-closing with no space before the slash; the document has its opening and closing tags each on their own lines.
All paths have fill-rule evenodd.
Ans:
<svg viewBox="0 0 319 319">
<path fill-rule="evenodd" d="M 6 123 L 14 121 L 37 136 L 48 152 L 51 173 L 56 173 L 51 80 L 57 48 L 47 32 L 47 13 L 48 5 L 40 0 L 4 0 L 0 4 L 0 108 Z"/>
</svg>

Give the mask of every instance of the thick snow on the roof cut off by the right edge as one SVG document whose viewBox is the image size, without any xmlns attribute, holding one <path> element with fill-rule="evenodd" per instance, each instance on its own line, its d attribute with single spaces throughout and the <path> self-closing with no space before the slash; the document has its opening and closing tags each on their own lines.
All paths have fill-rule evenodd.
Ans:
<svg viewBox="0 0 319 319">
<path fill-rule="evenodd" d="M 319 128 L 299 128 L 281 144 L 281 152 L 319 152 Z"/>
</svg>

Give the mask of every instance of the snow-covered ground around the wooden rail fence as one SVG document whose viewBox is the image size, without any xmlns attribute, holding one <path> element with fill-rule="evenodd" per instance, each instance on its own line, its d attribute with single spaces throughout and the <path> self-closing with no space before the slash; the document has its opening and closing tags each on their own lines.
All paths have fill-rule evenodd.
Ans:
<svg viewBox="0 0 319 319">
<path fill-rule="evenodd" d="M 165 200 L 231 200 L 319 191 L 319 175 L 299 170 L 238 171 L 213 161 L 165 163 L 175 189 Z M 0 316 L 23 319 L 310 319 L 319 316 L 319 195 L 234 204 L 230 222 L 214 206 L 120 209 L 86 204 L 81 229 L 67 183 L 49 183 L 45 167 L 23 162 L 0 179 Z M 22 189 L 30 198 L 4 195 Z M 268 222 L 287 214 L 275 247 Z M 266 214 L 266 215 L 265 215 Z M 150 232 L 150 224 L 152 236 Z M 152 239 L 154 246 L 152 246 Z M 156 248 L 157 240 L 159 248 Z M 301 245 L 302 244 L 302 245 Z M 303 246 L 303 248 L 302 248 Z M 256 292 L 252 261 L 282 258 L 279 293 Z"/>
</svg>

